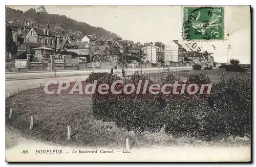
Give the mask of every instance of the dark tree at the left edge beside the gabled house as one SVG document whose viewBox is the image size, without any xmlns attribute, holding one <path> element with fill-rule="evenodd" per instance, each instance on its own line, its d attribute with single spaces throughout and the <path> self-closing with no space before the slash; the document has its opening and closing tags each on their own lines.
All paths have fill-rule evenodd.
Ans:
<svg viewBox="0 0 256 167">
<path fill-rule="evenodd" d="M 6 43 L 6 53 L 16 54 L 17 46 L 12 39 L 12 29 L 6 26 L 6 34 L 5 34 L 5 43 Z"/>
</svg>

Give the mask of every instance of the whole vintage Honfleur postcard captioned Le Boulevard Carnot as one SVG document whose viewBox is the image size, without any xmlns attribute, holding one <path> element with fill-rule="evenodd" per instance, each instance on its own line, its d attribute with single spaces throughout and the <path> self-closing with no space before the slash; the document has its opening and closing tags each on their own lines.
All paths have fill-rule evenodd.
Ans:
<svg viewBox="0 0 256 167">
<path fill-rule="evenodd" d="M 6 161 L 250 162 L 250 6 L 6 6 Z"/>
</svg>

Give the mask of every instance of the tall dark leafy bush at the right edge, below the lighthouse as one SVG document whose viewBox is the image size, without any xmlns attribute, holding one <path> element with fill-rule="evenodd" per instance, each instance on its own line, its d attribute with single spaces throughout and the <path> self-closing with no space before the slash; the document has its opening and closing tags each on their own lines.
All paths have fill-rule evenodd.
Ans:
<svg viewBox="0 0 256 167">
<path fill-rule="evenodd" d="M 212 86 L 209 105 L 219 114 L 219 127 L 228 135 L 250 133 L 251 85 L 241 78 L 224 79 Z"/>
</svg>

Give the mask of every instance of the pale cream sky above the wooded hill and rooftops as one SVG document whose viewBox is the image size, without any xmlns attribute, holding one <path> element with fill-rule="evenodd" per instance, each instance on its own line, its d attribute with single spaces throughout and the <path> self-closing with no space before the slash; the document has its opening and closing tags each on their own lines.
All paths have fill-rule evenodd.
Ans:
<svg viewBox="0 0 256 167">
<path fill-rule="evenodd" d="M 8 6 L 27 11 L 39 6 Z M 182 41 L 181 6 L 45 6 L 50 14 L 66 15 L 94 27 L 116 33 L 122 39 L 136 42 Z M 225 40 L 196 42 L 202 50 L 214 53 L 217 62 L 227 62 L 227 47 L 232 47 L 233 58 L 250 63 L 250 8 L 225 6 Z M 227 36 L 228 34 L 228 36 Z M 214 47 L 212 46 L 215 46 Z"/>
</svg>

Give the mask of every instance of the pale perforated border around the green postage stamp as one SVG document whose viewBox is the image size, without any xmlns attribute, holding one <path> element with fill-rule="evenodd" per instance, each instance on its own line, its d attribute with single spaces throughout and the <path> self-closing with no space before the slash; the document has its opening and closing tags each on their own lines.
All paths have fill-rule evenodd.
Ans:
<svg viewBox="0 0 256 167">
<path fill-rule="evenodd" d="M 184 20 L 184 7 L 221 7 L 223 8 L 223 39 L 190 39 L 190 40 L 185 40 L 183 37 L 183 20 Z M 186 6 L 181 6 L 181 39 L 183 42 L 224 42 L 226 40 L 226 22 L 225 22 L 225 6 L 223 5 L 186 5 Z"/>
</svg>

